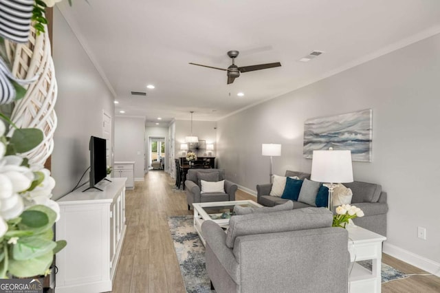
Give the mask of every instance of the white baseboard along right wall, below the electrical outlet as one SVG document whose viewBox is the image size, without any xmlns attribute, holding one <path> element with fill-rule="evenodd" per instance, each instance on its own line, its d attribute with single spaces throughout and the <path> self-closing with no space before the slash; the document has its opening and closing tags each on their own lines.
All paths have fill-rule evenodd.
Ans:
<svg viewBox="0 0 440 293">
<path fill-rule="evenodd" d="M 436 263 L 435 261 L 431 261 L 430 259 L 426 259 L 425 257 L 421 257 L 420 255 L 386 242 L 384 243 L 383 251 L 384 253 L 391 255 L 391 257 L 395 257 L 396 259 L 414 265 L 417 268 L 426 270 L 426 272 L 429 272 L 430 274 L 440 276 L 440 263 Z"/>
</svg>

